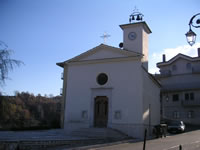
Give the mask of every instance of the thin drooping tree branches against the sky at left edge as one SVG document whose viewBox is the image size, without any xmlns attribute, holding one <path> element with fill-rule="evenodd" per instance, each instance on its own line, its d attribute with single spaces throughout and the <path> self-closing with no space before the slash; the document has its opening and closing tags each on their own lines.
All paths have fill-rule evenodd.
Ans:
<svg viewBox="0 0 200 150">
<path fill-rule="evenodd" d="M 9 71 L 23 64 L 22 61 L 10 57 L 12 52 L 4 42 L 0 41 L 0 86 L 5 84 Z"/>
</svg>

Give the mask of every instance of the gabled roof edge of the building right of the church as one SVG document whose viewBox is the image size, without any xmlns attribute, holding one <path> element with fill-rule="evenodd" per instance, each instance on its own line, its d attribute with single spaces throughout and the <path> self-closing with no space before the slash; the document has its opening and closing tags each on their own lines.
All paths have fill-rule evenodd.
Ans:
<svg viewBox="0 0 200 150">
<path fill-rule="evenodd" d="M 173 62 L 175 62 L 176 60 L 178 60 L 180 58 L 182 58 L 184 60 L 188 60 L 190 62 L 192 62 L 192 61 L 200 61 L 200 57 L 190 57 L 190 56 L 187 56 L 187 55 L 179 53 L 176 56 L 174 56 L 173 58 L 171 58 L 170 60 L 168 60 L 166 62 L 159 62 L 156 65 L 157 65 L 158 68 L 160 68 L 160 67 L 165 66 L 165 65 L 170 65 L 170 64 L 172 64 Z"/>
</svg>

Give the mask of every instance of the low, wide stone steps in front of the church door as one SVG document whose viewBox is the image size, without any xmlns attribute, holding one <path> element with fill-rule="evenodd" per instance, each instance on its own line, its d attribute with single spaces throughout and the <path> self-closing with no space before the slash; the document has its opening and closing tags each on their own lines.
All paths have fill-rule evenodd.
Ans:
<svg viewBox="0 0 200 150">
<path fill-rule="evenodd" d="M 71 136 L 99 139 L 127 139 L 128 136 L 111 128 L 81 128 L 70 133 Z"/>
</svg>

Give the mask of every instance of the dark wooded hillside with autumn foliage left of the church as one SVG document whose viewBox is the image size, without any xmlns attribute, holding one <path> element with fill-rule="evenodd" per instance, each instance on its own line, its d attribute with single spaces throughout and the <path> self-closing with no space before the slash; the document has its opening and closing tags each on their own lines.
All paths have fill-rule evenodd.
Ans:
<svg viewBox="0 0 200 150">
<path fill-rule="evenodd" d="M 61 97 L 0 96 L 0 130 L 60 128 Z"/>
</svg>

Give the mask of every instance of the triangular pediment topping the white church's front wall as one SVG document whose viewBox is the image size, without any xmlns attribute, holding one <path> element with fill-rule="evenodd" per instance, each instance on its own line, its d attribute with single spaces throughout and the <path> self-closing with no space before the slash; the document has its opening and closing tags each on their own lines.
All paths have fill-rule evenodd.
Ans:
<svg viewBox="0 0 200 150">
<path fill-rule="evenodd" d="M 93 49 L 90 49 L 63 63 L 117 59 L 117 58 L 127 58 L 127 57 L 142 57 L 142 54 L 108 46 L 105 44 L 100 44 L 99 46 L 94 47 Z M 58 65 L 63 67 L 63 63 L 58 63 Z"/>
</svg>

